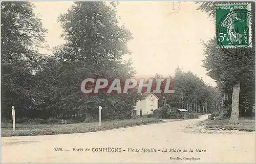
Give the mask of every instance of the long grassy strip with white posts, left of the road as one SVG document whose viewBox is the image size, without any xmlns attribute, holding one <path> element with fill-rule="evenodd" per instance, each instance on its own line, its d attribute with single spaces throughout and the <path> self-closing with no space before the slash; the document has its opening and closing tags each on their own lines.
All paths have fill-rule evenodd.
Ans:
<svg viewBox="0 0 256 164">
<path fill-rule="evenodd" d="M 99 123 L 77 123 L 77 124 L 16 124 L 16 132 L 12 131 L 12 124 L 2 127 L 2 136 L 31 136 L 31 135 L 51 135 L 51 134 L 71 134 L 86 133 L 116 129 L 121 127 L 139 126 L 145 124 L 160 123 L 159 119 L 144 118 L 130 120 L 115 120 Z"/>
</svg>

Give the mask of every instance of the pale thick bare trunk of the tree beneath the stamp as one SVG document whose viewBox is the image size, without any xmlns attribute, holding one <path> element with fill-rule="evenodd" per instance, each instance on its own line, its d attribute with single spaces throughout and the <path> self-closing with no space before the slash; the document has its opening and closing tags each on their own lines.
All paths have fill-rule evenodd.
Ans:
<svg viewBox="0 0 256 164">
<path fill-rule="evenodd" d="M 229 124 L 238 124 L 240 83 L 233 86 L 232 109 Z"/>
</svg>

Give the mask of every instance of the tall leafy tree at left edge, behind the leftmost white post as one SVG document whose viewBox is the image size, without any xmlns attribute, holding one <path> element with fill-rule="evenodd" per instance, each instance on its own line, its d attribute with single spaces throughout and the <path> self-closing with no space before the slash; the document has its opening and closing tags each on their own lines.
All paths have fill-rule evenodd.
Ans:
<svg viewBox="0 0 256 164">
<path fill-rule="evenodd" d="M 2 116 L 11 116 L 11 106 L 25 116 L 37 105 L 33 87 L 40 69 L 37 48 L 46 29 L 30 2 L 5 1 L 1 8 Z"/>
</svg>

